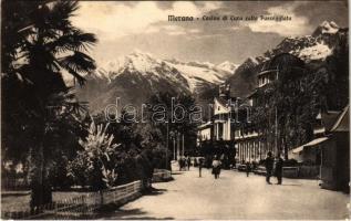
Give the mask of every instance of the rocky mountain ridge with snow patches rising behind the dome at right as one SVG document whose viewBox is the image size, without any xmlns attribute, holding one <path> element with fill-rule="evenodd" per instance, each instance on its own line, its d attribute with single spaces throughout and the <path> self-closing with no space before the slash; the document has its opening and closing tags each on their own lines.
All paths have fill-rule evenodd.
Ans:
<svg viewBox="0 0 351 221">
<path fill-rule="evenodd" d="M 335 22 L 323 21 L 312 35 L 283 39 L 275 49 L 260 56 L 249 57 L 239 65 L 227 82 L 231 84 L 233 96 L 246 97 L 256 86 L 256 74 L 265 61 L 280 53 L 290 53 L 306 63 L 323 64 L 327 57 L 334 54 L 335 48 L 347 45 L 348 29 Z"/>
</svg>

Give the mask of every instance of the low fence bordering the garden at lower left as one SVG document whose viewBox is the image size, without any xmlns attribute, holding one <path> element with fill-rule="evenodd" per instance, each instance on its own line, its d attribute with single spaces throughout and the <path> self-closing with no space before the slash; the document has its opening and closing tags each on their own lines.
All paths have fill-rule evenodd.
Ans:
<svg viewBox="0 0 351 221">
<path fill-rule="evenodd" d="M 3 219 L 83 219 L 93 218 L 106 204 L 121 206 L 141 196 L 142 183 L 134 181 L 112 189 L 54 201 L 32 211 L 2 212 Z"/>
</svg>

